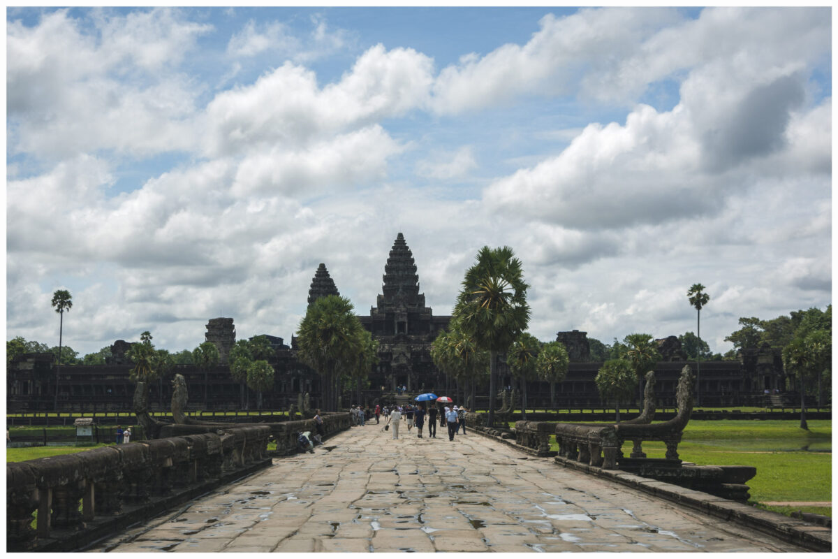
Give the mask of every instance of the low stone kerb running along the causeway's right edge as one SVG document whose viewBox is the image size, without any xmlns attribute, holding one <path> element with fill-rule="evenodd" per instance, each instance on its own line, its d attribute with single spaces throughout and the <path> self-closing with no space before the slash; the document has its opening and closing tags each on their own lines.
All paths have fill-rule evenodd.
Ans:
<svg viewBox="0 0 838 559">
<path fill-rule="evenodd" d="M 522 453 L 537 456 L 534 449 L 520 446 L 515 443 L 514 439 L 510 440 L 489 434 L 485 432 L 485 427 L 472 427 L 471 432 L 477 432 L 483 437 L 504 443 Z M 556 456 L 554 460 L 559 466 L 573 468 L 586 474 L 610 479 L 618 484 L 628 485 L 644 493 L 652 494 L 661 499 L 666 499 L 694 510 L 699 510 L 722 520 L 736 522 L 738 525 L 753 528 L 768 536 L 777 537 L 812 551 L 832 551 L 832 531 L 825 526 L 814 525 L 804 520 L 789 518 L 788 516 L 770 510 L 757 509 L 753 506 L 737 503 L 729 499 L 722 499 L 709 493 L 703 493 L 695 489 L 686 489 L 679 485 L 667 484 L 663 481 L 644 478 L 621 470 L 597 468 L 596 466 L 578 463 L 560 456 Z"/>
</svg>

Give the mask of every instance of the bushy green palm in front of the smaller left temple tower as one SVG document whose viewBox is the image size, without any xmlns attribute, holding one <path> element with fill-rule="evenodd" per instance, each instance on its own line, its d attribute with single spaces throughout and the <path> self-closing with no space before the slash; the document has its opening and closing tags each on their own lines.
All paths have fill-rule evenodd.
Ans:
<svg viewBox="0 0 838 559">
<path fill-rule="evenodd" d="M 317 371 L 323 382 L 323 407 L 336 411 L 339 370 L 352 370 L 362 351 L 360 320 L 349 299 L 339 295 L 318 298 L 308 306 L 297 329 L 297 358 Z"/>
</svg>

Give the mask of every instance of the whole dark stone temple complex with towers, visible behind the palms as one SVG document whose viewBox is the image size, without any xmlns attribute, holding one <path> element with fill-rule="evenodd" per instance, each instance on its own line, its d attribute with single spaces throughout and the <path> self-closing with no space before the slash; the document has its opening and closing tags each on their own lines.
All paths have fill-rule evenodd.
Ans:
<svg viewBox="0 0 838 559">
<path fill-rule="evenodd" d="M 368 388 L 362 398 L 374 401 L 382 395 L 382 387 L 391 393 L 396 386 L 408 391 L 453 390 L 454 381 L 443 375 L 431 359 L 431 343 L 447 328 L 451 317 L 434 316 L 419 292 L 416 262 L 401 233 L 396 236 L 384 267 L 381 293 L 370 307 L 369 315 L 360 321 L 379 342 L 379 364 L 370 370 Z M 314 273 L 308 290 L 308 304 L 317 298 L 339 294 L 324 264 Z M 302 293 L 301 293 L 302 297 Z M 297 344 L 268 335 L 275 354 L 270 362 L 276 370 L 272 391 L 264 393 L 266 409 L 287 409 L 297 395 L 308 392 L 313 406 L 318 405 L 319 377 L 297 361 Z M 218 346 L 220 365 L 201 370 L 194 365 L 177 365 L 174 373 L 184 375 L 189 389 L 189 408 L 201 410 L 235 410 L 241 407 L 242 386 L 230 377 L 227 354 L 235 343 L 233 318 L 211 318 L 206 325 L 206 341 Z M 558 332 L 556 340 L 565 344 L 571 363 L 564 381 L 556 385 L 556 406 L 603 406 L 594 384 L 600 362 L 591 360 L 587 334 L 578 330 Z M 675 403 L 675 386 L 685 355 L 675 336 L 659 340 L 663 360 L 655 367 L 656 398 L 660 406 Z M 59 409 L 74 411 L 131 409 L 133 383 L 128 379 L 132 368 L 125 358 L 130 348 L 124 340 L 111 346 L 107 365 L 65 365 L 58 382 Z M 694 364 L 693 364 L 694 365 Z M 499 386 L 514 386 L 504 366 L 500 367 Z M 167 410 L 171 399 L 170 379 L 158 380 L 151 386 L 153 409 Z M 762 405 L 765 391 L 783 390 L 786 382 L 779 349 L 754 348 L 740 352 L 736 361 L 702 361 L 699 391 L 703 406 Z M 244 390 L 247 390 L 246 388 Z M 56 391 L 55 365 L 49 354 L 25 354 L 8 366 L 8 411 L 51 410 Z M 550 401 L 546 382 L 527 385 L 530 406 L 545 406 Z M 485 392 L 485 390 L 483 391 Z M 485 395 L 484 395 L 485 396 Z M 344 406 L 355 402 L 344 397 Z M 353 396 L 354 397 L 354 394 Z M 255 402 L 251 394 L 247 401 Z M 480 400 L 478 399 L 478 404 Z"/>
</svg>

